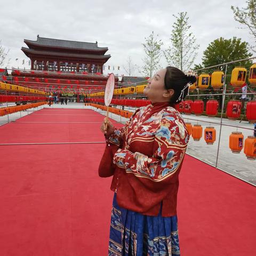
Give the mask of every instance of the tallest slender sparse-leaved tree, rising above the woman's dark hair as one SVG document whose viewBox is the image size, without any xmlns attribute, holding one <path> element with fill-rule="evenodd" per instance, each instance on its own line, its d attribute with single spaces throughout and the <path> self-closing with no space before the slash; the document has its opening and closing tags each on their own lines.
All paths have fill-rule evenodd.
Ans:
<svg viewBox="0 0 256 256">
<path fill-rule="evenodd" d="M 171 46 L 164 51 L 164 56 L 168 65 L 188 71 L 197 56 L 199 44 L 196 44 L 193 33 L 189 32 L 191 26 L 188 25 L 187 12 L 173 16 L 176 21 L 172 26 Z"/>
</svg>

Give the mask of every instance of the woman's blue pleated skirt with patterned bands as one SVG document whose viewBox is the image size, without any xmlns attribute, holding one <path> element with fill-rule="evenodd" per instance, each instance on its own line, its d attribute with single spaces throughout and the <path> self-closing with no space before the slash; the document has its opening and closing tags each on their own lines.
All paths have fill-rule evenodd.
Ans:
<svg viewBox="0 0 256 256">
<path fill-rule="evenodd" d="M 180 255 L 177 215 L 142 215 L 118 206 L 114 194 L 111 212 L 109 256 Z"/>
</svg>

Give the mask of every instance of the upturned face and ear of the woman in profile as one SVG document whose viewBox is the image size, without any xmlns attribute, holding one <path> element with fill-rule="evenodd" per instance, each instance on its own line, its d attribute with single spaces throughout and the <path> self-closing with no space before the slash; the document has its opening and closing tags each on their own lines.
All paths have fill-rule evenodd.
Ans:
<svg viewBox="0 0 256 256">
<path fill-rule="evenodd" d="M 152 102 L 166 102 L 170 101 L 173 90 L 166 90 L 164 87 L 164 77 L 166 68 L 160 69 L 156 74 L 148 79 L 148 85 L 145 87 L 143 93 Z"/>
</svg>

